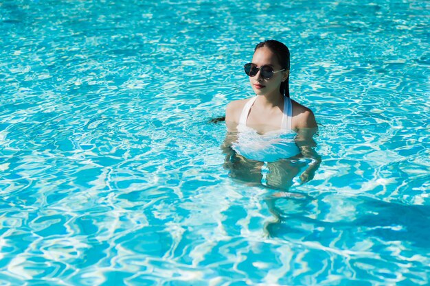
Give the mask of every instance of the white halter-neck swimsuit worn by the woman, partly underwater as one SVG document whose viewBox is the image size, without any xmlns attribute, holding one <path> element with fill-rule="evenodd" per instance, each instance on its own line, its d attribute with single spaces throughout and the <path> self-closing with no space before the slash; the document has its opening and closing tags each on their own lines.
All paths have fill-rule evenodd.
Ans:
<svg viewBox="0 0 430 286">
<path fill-rule="evenodd" d="M 299 147 L 294 141 L 296 133 L 291 130 L 291 117 L 293 116 L 291 99 L 284 97 L 284 115 L 280 130 L 258 134 L 256 130 L 247 126 L 249 111 L 257 97 L 258 95 L 252 97 L 240 114 L 238 140 L 231 143 L 232 149 L 245 158 L 264 163 L 291 158 L 299 154 Z"/>
</svg>

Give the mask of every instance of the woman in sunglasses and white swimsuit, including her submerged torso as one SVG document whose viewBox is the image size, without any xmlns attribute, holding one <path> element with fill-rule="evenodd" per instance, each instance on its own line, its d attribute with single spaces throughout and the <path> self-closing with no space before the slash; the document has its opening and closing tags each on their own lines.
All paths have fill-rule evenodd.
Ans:
<svg viewBox="0 0 430 286">
<path fill-rule="evenodd" d="M 317 123 L 312 110 L 289 98 L 288 48 L 277 40 L 259 43 L 244 68 L 256 96 L 227 105 L 223 150 L 230 176 L 288 189 L 306 168 L 300 179 L 310 180 L 321 162 L 312 148 Z"/>
</svg>

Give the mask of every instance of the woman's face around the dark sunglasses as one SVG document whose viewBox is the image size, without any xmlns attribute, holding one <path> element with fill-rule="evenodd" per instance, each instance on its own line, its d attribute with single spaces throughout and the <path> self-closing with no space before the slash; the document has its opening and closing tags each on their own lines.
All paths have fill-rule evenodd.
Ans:
<svg viewBox="0 0 430 286">
<path fill-rule="evenodd" d="M 256 64 L 257 67 L 268 65 L 272 67 L 273 71 L 280 71 L 282 67 L 276 58 L 275 53 L 268 47 L 258 48 L 252 57 L 252 63 Z M 280 71 L 279 73 L 273 73 L 273 76 L 269 80 L 265 79 L 261 75 L 261 71 L 253 76 L 249 77 L 249 82 L 256 95 L 268 95 L 272 93 L 280 93 L 281 82 L 286 80 L 289 71 Z"/>
</svg>

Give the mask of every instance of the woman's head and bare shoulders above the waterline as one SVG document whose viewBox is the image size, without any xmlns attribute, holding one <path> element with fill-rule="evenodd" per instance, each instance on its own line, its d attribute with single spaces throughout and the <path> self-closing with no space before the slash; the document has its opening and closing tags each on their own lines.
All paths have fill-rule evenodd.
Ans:
<svg viewBox="0 0 430 286">
<path fill-rule="evenodd" d="M 290 52 L 284 44 L 277 40 L 259 43 L 252 62 L 245 64 L 244 68 L 257 96 L 227 105 L 225 121 L 229 130 L 235 130 L 239 123 L 259 133 L 317 127 L 313 112 L 289 99 Z M 285 114 L 284 109 L 287 113 L 292 111 L 292 114 Z"/>
</svg>

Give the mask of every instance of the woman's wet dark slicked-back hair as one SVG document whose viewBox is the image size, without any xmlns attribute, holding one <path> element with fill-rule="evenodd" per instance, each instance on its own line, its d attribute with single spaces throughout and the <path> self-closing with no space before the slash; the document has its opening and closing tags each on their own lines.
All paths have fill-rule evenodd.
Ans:
<svg viewBox="0 0 430 286">
<path fill-rule="evenodd" d="M 290 70 L 290 51 L 286 45 L 278 42 L 278 40 L 264 40 L 264 42 L 258 43 L 254 52 L 260 47 L 268 47 L 273 53 L 275 53 L 276 58 L 278 58 L 278 62 L 281 65 L 282 69 L 286 69 L 286 71 Z M 288 78 L 284 82 L 281 83 L 280 92 L 282 95 L 286 97 L 290 97 L 290 88 L 288 84 L 290 76 L 288 74 Z"/>
</svg>

